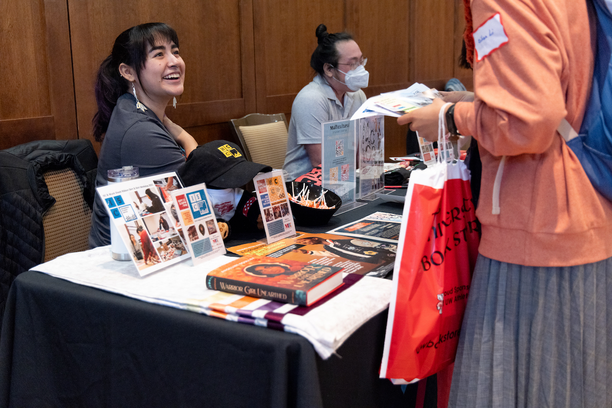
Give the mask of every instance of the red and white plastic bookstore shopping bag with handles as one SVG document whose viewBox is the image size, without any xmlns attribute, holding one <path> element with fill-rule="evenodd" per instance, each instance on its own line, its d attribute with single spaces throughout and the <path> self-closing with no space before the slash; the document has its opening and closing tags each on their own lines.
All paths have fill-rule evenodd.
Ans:
<svg viewBox="0 0 612 408">
<path fill-rule="evenodd" d="M 478 255 L 469 171 L 463 161 L 452 163 L 443 109 L 441 154 L 427 169 L 412 171 L 406 191 L 380 372 L 395 384 L 431 376 L 455 361 Z"/>
</svg>

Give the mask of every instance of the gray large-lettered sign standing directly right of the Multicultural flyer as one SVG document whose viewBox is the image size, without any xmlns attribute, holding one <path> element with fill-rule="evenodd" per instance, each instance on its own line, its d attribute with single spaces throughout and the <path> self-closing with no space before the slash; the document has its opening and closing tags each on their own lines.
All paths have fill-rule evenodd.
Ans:
<svg viewBox="0 0 612 408">
<path fill-rule="evenodd" d="M 384 189 L 384 116 L 356 121 L 359 138 L 359 196 Z"/>
</svg>

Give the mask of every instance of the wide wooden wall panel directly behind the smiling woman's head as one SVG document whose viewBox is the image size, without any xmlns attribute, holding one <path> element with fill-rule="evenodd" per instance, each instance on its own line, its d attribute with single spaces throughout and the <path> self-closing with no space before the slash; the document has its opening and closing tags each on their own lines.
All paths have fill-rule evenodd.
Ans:
<svg viewBox="0 0 612 408">
<path fill-rule="evenodd" d="M 91 120 L 97 111 L 94 81 L 100 62 L 110 54 L 122 31 L 150 21 L 163 21 L 176 29 L 185 60 L 185 92 L 177 98 L 176 109 L 166 109 L 174 122 L 189 131 L 252 110 L 255 84 L 249 78 L 249 71 L 253 71 L 250 4 L 245 0 L 190 0 L 177 7 L 165 0 L 69 0 L 80 137 L 92 138 Z M 200 137 L 207 134 L 198 130 Z"/>
</svg>

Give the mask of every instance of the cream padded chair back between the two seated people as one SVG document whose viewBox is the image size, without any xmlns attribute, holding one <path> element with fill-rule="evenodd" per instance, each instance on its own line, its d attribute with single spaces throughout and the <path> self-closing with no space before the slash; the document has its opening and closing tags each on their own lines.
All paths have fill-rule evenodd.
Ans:
<svg viewBox="0 0 612 408">
<path fill-rule="evenodd" d="M 247 160 L 283 168 L 287 150 L 287 119 L 284 113 L 252 113 L 230 121 Z"/>
</svg>

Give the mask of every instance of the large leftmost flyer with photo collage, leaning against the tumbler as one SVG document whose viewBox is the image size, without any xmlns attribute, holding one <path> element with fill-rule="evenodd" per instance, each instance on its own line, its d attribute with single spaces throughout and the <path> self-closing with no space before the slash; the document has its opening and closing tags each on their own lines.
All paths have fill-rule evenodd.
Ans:
<svg viewBox="0 0 612 408">
<path fill-rule="evenodd" d="M 96 188 L 140 276 L 189 257 L 170 199 L 181 187 L 176 173 L 168 172 Z"/>
</svg>

